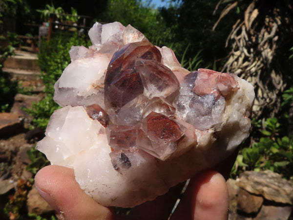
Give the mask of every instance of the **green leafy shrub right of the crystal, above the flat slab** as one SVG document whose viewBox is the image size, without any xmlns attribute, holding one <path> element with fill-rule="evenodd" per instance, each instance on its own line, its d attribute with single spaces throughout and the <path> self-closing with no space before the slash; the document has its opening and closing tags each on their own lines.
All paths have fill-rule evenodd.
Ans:
<svg viewBox="0 0 293 220">
<path fill-rule="evenodd" d="M 293 88 L 286 90 L 282 97 L 281 106 L 285 110 L 280 117 L 268 118 L 262 123 L 263 125 L 260 121 L 252 121 L 254 130 L 259 130 L 259 139 L 254 137 L 257 141 L 250 148 L 243 148 L 240 151 L 231 177 L 239 175 L 244 170 L 268 169 L 287 179 L 293 176 L 293 135 L 287 129 L 288 117 L 290 117 L 288 111 L 292 110 L 293 104 Z M 261 129 L 262 127 L 263 129 Z"/>
</svg>

